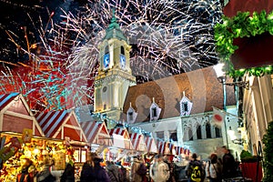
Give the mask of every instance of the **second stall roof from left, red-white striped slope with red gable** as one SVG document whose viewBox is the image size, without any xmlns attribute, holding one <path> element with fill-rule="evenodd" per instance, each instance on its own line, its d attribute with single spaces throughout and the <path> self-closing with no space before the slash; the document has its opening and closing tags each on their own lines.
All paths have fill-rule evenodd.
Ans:
<svg viewBox="0 0 273 182">
<path fill-rule="evenodd" d="M 36 119 L 47 137 L 87 142 L 73 110 L 43 112 Z"/>
</svg>

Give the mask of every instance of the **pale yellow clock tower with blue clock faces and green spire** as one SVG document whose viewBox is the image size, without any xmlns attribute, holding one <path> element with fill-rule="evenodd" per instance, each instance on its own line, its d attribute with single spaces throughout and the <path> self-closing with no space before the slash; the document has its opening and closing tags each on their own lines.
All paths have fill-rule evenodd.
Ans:
<svg viewBox="0 0 273 182">
<path fill-rule="evenodd" d="M 99 48 L 99 70 L 95 79 L 95 113 L 120 120 L 129 86 L 136 85 L 129 62 L 131 46 L 116 23 L 115 11 Z M 115 125 L 114 125 L 115 126 Z M 108 127 L 113 127 L 108 123 Z"/>
</svg>

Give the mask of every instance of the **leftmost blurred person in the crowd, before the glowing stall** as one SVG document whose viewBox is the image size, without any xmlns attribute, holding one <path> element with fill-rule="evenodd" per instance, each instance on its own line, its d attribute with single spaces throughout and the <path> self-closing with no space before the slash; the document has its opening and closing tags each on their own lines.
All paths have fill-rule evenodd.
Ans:
<svg viewBox="0 0 273 182">
<path fill-rule="evenodd" d="M 35 167 L 29 158 L 22 159 L 23 165 L 21 172 L 16 177 L 16 182 L 34 182 Z"/>
</svg>

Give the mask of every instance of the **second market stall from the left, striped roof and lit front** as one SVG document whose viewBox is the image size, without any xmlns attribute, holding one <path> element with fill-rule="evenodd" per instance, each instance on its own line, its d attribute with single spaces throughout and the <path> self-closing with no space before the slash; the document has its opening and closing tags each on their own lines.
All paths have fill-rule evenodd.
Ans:
<svg viewBox="0 0 273 182">
<path fill-rule="evenodd" d="M 86 135 L 77 122 L 75 112 L 69 110 L 49 111 L 36 115 L 36 120 L 42 127 L 48 138 L 63 139 L 68 148 L 67 153 L 73 153 L 75 162 L 86 162 L 87 139 Z M 70 155 L 68 155 L 70 156 Z"/>
</svg>

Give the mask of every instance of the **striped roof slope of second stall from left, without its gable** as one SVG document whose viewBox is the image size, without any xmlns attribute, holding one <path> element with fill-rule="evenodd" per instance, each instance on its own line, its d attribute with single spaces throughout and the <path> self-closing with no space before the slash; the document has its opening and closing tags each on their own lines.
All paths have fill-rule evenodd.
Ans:
<svg viewBox="0 0 273 182">
<path fill-rule="evenodd" d="M 42 127 L 43 132 L 46 137 L 53 137 L 57 130 L 62 126 L 66 121 L 66 118 L 69 116 L 67 110 L 61 111 L 49 111 L 38 114 L 36 120 L 39 125 Z"/>
</svg>

